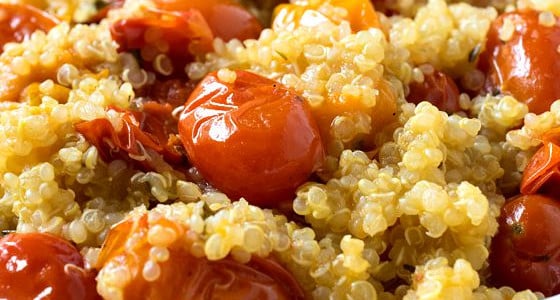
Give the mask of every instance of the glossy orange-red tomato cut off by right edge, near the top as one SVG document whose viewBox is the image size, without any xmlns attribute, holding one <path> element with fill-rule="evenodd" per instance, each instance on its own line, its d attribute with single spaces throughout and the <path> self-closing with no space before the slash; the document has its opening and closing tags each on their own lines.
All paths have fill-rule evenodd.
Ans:
<svg viewBox="0 0 560 300">
<path fill-rule="evenodd" d="M 551 16 L 551 24 L 543 25 L 539 14 L 527 10 L 501 15 L 480 58 L 487 90 L 511 94 L 534 113 L 549 110 L 560 98 L 560 19 Z"/>
</svg>

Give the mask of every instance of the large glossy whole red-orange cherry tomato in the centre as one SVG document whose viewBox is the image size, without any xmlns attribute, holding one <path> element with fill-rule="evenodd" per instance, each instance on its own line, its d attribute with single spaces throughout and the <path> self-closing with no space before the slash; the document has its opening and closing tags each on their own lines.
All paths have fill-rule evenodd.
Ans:
<svg viewBox="0 0 560 300">
<path fill-rule="evenodd" d="M 232 199 L 277 206 L 321 165 L 324 150 L 307 103 L 280 83 L 236 71 L 207 75 L 185 104 L 179 135 L 191 163 Z"/>
</svg>

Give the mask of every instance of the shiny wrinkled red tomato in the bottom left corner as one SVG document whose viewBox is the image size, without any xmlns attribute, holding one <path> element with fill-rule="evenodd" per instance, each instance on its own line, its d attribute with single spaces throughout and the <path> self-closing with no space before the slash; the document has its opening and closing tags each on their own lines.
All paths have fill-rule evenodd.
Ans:
<svg viewBox="0 0 560 300">
<path fill-rule="evenodd" d="M 95 275 L 69 242 L 46 233 L 13 233 L 0 240 L 0 298 L 100 299 Z"/>
</svg>

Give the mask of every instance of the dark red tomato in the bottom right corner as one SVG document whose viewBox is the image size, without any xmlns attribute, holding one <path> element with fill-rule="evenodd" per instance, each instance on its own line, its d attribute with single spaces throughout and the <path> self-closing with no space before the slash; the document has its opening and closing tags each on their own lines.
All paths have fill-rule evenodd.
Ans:
<svg viewBox="0 0 560 300">
<path fill-rule="evenodd" d="M 560 202 L 542 195 L 509 200 L 490 250 L 496 285 L 560 293 Z"/>
</svg>

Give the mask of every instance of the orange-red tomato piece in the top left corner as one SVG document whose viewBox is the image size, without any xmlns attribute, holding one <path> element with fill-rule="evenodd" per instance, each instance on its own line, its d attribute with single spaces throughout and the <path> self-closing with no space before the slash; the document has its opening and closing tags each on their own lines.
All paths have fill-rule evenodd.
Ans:
<svg viewBox="0 0 560 300">
<path fill-rule="evenodd" d="M 0 3 L 0 53 L 9 42 L 21 42 L 36 30 L 48 32 L 59 21 L 31 5 Z"/>
</svg>

